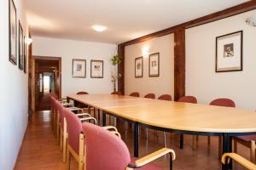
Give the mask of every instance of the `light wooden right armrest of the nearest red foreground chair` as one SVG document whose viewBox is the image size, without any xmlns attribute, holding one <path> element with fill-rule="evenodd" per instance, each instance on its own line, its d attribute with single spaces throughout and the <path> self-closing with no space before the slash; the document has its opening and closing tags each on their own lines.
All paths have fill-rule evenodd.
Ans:
<svg viewBox="0 0 256 170">
<path fill-rule="evenodd" d="M 135 165 L 129 165 L 128 167 L 133 167 L 133 168 L 143 167 L 144 165 L 148 164 L 149 162 L 154 161 L 154 160 L 160 158 L 161 156 L 165 156 L 166 154 L 170 154 L 170 156 L 171 156 L 170 161 L 175 160 L 176 155 L 175 155 L 174 150 L 171 150 L 169 148 L 162 148 L 160 150 L 157 150 L 157 151 L 149 154 L 148 156 L 144 156 L 144 157 L 138 159 L 137 161 L 135 161 Z"/>
</svg>

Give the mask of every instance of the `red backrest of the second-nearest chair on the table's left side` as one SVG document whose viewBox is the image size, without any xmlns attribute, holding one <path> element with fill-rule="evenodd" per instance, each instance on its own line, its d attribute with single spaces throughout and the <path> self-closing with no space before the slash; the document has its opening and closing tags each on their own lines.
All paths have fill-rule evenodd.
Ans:
<svg viewBox="0 0 256 170">
<path fill-rule="evenodd" d="M 79 134 L 83 131 L 82 122 L 72 111 L 63 109 L 67 120 L 68 144 L 79 154 Z"/>
</svg>

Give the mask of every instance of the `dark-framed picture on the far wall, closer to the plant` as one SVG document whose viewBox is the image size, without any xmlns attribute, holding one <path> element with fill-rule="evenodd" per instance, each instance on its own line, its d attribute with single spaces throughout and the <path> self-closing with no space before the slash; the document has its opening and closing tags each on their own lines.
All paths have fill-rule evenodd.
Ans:
<svg viewBox="0 0 256 170">
<path fill-rule="evenodd" d="M 103 78 L 103 60 L 90 60 L 90 78 Z"/>
</svg>

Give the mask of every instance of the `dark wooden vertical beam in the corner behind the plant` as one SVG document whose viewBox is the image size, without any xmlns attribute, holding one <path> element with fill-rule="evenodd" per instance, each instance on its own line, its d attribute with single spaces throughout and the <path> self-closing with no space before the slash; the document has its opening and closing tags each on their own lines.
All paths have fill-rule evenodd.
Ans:
<svg viewBox="0 0 256 170">
<path fill-rule="evenodd" d="M 118 72 L 121 75 L 118 82 L 118 91 L 125 94 L 125 45 L 118 46 L 118 54 L 121 57 L 121 63 L 118 66 Z"/>
</svg>

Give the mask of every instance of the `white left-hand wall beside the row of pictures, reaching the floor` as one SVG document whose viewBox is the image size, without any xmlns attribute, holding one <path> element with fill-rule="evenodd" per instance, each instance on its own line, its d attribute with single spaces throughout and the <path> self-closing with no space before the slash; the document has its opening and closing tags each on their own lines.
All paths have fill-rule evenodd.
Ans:
<svg viewBox="0 0 256 170">
<path fill-rule="evenodd" d="M 17 22 L 27 32 L 22 3 L 14 0 Z M 17 23 L 17 27 L 18 27 Z M 27 74 L 9 62 L 9 1 L 0 1 L 0 169 L 15 166 L 27 124 Z M 27 34 L 26 34 L 27 35 Z"/>
</svg>

